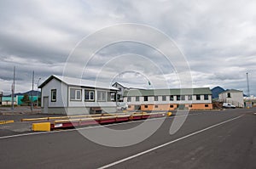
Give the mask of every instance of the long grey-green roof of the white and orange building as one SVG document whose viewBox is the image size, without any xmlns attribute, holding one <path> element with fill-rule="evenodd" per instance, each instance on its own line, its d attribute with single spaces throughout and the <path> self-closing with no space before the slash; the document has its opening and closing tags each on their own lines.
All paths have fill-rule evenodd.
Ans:
<svg viewBox="0 0 256 169">
<path fill-rule="evenodd" d="M 124 96 L 165 96 L 165 95 L 190 95 L 190 94 L 212 94 L 209 87 L 201 88 L 172 88 L 172 89 L 146 89 L 129 90 Z"/>
</svg>

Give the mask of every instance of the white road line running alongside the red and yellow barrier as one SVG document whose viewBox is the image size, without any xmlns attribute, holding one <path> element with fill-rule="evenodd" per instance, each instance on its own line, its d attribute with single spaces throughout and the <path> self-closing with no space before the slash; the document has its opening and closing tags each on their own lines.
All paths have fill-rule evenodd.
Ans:
<svg viewBox="0 0 256 169">
<path fill-rule="evenodd" d="M 201 115 L 203 113 L 204 112 L 196 113 L 196 114 L 190 114 L 188 116 Z M 185 116 L 185 115 L 176 115 L 176 117 L 182 117 L 182 116 Z M 169 116 L 169 117 L 160 117 L 160 118 L 148 119 L 147 121 L 156 121 L 156 120 L 160 120 L 160 119 L 164 119 L 164 118 L 172 119 L 174 117 L 175 117 L 175 115 Z M 74 129 L 51 131 L 51 132 L 29 132 L 29 133 L 15 134 L 15 135 L 10 135 L 10 136 L 2 136 L 2 137 L 0 137 L 0 139 L 3 139 L 3 138 L 17 138 L 17 137 L 22 137 L 22 136 L 30 136 L 30 135 L 37 135 L 37 134 L 48 134 L 48 133 L 55 133 L 55 132 L 73 132 L 73 131 L 79 131 L 79 130 L 84 130 L 84 129 L 86 130 L 86 129 L 92 129 L 92 128 L 99 128 L 99 127 L 112 127 L 112 126 L 117 126 L 117 125 L 135 123 L 135 122 L 142 122 L 142 121 L 127 121 L 127 122 L 123 122 L 123 123 L 113 123 L 113 124 L 108 124 L 108 125 L 104 125 L 104 126 L 82 127 L 82 128 L 74 128 Z"/>
</svg>

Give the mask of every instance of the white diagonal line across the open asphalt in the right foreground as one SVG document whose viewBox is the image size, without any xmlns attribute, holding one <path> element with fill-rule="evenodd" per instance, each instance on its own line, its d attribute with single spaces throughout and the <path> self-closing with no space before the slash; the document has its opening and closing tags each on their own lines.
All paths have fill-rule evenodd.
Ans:
<svg viewBox="0 0 256 169">
<path fill-rule="evenodd" d="M 170 141 L 170 142 L 168 142 L 168 143 L 166 143 L 166 144 L 161 144 L 161 145 L 159 145 L 159 146 L 157 146 L 157 147 L 154 147 L 154 148 L 152 148 L 152 149 L 145 150 L 145 151 L 140 152 L 140 153 L 138 153 L 138 154 L 136 154 L 136 155 L 131 155 L 131 156 L 129 156 L 129 157 L 126 157 L 125 159 L 122 159 L 122 160 L 119 160 L 119 161 L 115 161 L 115 162 L 110 163 L 110 164 L 108 164 L 108 165 L 106 165 L 106 166 L 99 167 L 98 169 L 105 169 L 105 168 L 108 168 L 108 167 L 110 167 L 110 166 L 115 166 L 115 165 L 117 165 L 117 164 L 119 164 L 119 163 L 122 163 L 122 162 L 125 162 L 125 161 L 129 161 L 129 160 L 131 160 L 131 159 L 136 158 L 137 156 L 144 155 L 144 154 L 147 154 L 147 153 L 149 153 L 149 152 L 151 152 L 151 151 L 154 151 L 155 149 L 160 149 L 160 148 L 162 148 L 162 147 L 165 147 L 166 145 L 176 143 L 177 141 L 183 140 L 183 139 L 185 139 L 185 138 L 189 138 L 189 137 L 194 136 L 195 134 L 198 134 L 198 133 L 200 133 L 200 132 L 205 132 L 205 131 L 207 131 L 207 130 L 213 128 L 213 127 L 218 127 L 218 126 L 220 126 L 220 125 L 222 125 L 222 124 L 224 124 L 224 123 L 226 123 L 226 122 L 234 121 L 234 120 L 236 120 L 236 119 L 241 118 L 242 116 L 243 116 L 243 115 L 240 115 L 240 116 L 237 116 L 237 117 L 232 118 L 232 119 L 230 119 L 230 120 L 223 121 L 223 122 L 220 122 L 220 123 L 218 123 L 218 124 L 212 125 L 212 126 L 210 126 L 210 127 L 204 128 L 204 129 L 202 129 L 202 130 L 200 130 L 200 131 L 190 133 L 189 135 L 183 136 L 182 138 L 177 138 L 177 139 L 172 140 L 172 141 Z"/>
</svg>

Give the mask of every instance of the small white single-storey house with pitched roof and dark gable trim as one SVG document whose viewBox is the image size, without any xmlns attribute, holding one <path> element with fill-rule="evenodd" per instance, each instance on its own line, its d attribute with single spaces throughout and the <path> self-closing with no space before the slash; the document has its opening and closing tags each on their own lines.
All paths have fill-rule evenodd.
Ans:
<svg viewBox="0 0 256 169">
<path fill-rule="evenodd" d="M 41 88 L 43 113 L 94 114 L 116 111 L 117 88 L 67 76 L 49 76 Z"/>
</svg>

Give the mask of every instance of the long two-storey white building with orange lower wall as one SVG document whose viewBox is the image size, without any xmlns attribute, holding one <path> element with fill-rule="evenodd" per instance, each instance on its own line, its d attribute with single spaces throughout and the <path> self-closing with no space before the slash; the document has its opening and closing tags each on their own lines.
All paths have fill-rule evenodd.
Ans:
<svg viewBox="0 0 256 169">
<path fill-rule="evenodd" d="M 212 92 L 208 87 L 183 89 L 131 89 L 124 93 L 128 110 L 209 110 Z"/>
</svg>

